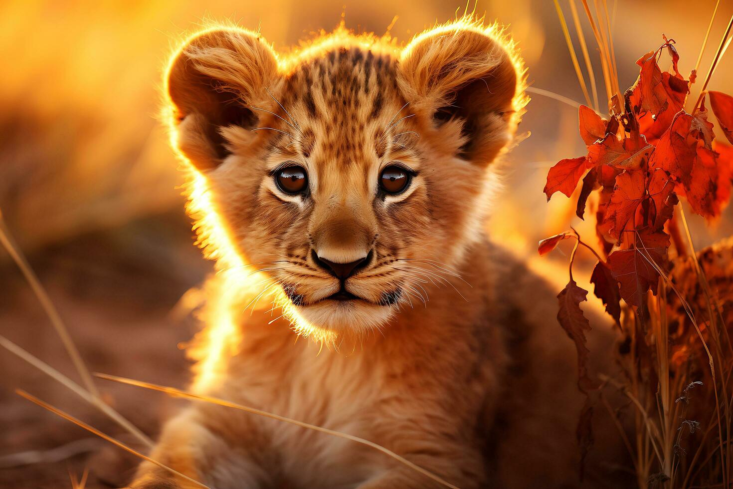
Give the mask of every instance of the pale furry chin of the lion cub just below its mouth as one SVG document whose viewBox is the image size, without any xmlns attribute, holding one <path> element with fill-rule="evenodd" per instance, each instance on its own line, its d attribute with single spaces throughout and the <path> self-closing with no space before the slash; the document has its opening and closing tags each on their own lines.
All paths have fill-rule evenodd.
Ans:
<svg viewBox="0 0 733 489">
<path fill-rule="evenodd" d="M 361 332 L 379 328 L 394 315 L 394 306 L 380 306 L 365 301 L 320 301 L 309 306 L 295 306 L 301 320 L 328 331 Z"/>
</svg>

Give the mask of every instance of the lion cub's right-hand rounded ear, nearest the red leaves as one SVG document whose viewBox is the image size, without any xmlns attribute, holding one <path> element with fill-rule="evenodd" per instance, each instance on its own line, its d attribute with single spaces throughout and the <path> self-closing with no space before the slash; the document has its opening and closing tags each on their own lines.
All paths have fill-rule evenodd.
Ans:
<svg viewBox="0 0 733 489">
<path fill-rule="evenodd" d="M 398 83 L 410 110 L 454 140 L 457 156 L 487 164 L 516 130 L 519 65 L 485 29 L 449 26 L 416 37 L 402 51 Z"/>
</svg>

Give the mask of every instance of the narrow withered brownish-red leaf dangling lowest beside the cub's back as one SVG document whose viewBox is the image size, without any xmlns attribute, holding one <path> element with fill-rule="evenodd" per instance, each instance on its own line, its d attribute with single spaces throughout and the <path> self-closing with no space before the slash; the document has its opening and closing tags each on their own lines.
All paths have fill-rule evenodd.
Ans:
<svg viewBox="0 0 733 489">
<path fill-rule="evenodd" d="M 596 386 L 596 383 L 588 376 L 587 365 L 590 351 L 586 347 L 585 332 L 590 331 L 591 325 L 581 309 L 581 302 L 587 301 L 587 296 L 588 291 L 578 287 L 578 284 L 572 279 L 557 295 L 560 303 L 557 320 L 567 336 L 575 342 L 575 349 L 578 350 L 578 387 L 583 392 Z"/>
</svg>

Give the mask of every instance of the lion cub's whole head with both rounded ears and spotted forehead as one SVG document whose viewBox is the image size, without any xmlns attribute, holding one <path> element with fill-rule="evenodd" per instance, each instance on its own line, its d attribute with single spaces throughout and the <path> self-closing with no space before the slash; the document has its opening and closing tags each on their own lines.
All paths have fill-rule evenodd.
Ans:
<svg viewBox="0 0 733 489">
<path fill-rule="evenodd" d="M 515 65 L 476 26 L 404 51 L 339 31 L 287 65 L 230 29 L 180 51 L 169 94 L 262 287 L 314 326 L 364 329 L 453 278 L 515 129 Z"/>
</svg>

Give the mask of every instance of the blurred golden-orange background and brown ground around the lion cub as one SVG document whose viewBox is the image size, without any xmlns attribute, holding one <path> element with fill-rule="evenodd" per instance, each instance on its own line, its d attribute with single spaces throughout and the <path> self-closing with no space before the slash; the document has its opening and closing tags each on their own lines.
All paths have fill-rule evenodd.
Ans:
<svg viewBox="0 0 733 489">
<path fill-rule="evenodd" d="M 572 22 L 567 0 L 559 3 Z M 187 378 L 179 347 L 196 325 L 177 314 L 176 305 L 211 265 L 192 246 L 177 162 L 157 119 L 161 68 L 183 34 L 207 20 L 228 20 L 259 28 L 276 49 L 287 51 L 320 29 L 333 29 L 345 13 L 348 28 L 377 34 L 397 16 L 390 32 L 407 42 L 436 21 L 462 14 L 464 7 L 445 0 L 1 1 L 0 211 L 89 368 L 174 386 L 185 385 Z M 662 34 L 677 41 L 686 76 L 713 7 L 715 0 L 608 0 L 620 86 L 633 84 L 636 59 L 658 48 Z M 532 87 L 583 101 L 552 1 L 479 1 L 476 12 L 509 26 Z M 732 14 L 733 4 L 721 2 L 699 80 Z M 594 48 L 582 12 L 581 19 Z M 578 49 L 572 23 L 570 32 Z M 595 49 L 591 56 L 600 78 Z M 730 92 L 731 56 L 721 60 L 710 89 Z M 667 62 L 663 58 L 663 68 Z M 693 86 L 693 96 L 699 86 Z M 600 84 L 598 90 L 605 93 Z M 574 200 L 556 194 L 547 204 L 542 194 L 550 166 L 585 154 L 577 109 L 543 95 L 531 97 L 520 125 L 530 136 L 510 155 L 507 191 L 489 229 L 517 253 L 537 260 L 537 240 L 570 224 L 579 225 L 589 241 L 594 231 L 592 223 L 574 217 Z M 712 226 L 691 220 L 698 247 L 733 234 L 730 209 Z M 554 254 L 565 273 L 561 255 Z M 550 274 L 552 260 L 543 265 Z M 560 281 L 565 279 L 563 274 Z M 43 310 L 1 249 L 0 334 L 76 379 Z M 13 390 L 29 390 L 126 439 L 119 428 L 5 350 L 0 350 L 0 374 L 0 487 L 71 487 L 68 471 L 81 474 L 85 467 L 91 469 L 87 487 L 124 485 L 133 460 Z M 101 382 L 109 402 L 150 435 L 175 408 L 159 394 Z"/>
</svg>

